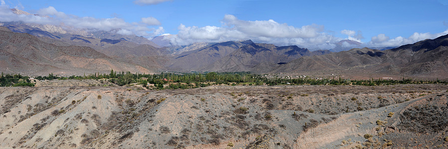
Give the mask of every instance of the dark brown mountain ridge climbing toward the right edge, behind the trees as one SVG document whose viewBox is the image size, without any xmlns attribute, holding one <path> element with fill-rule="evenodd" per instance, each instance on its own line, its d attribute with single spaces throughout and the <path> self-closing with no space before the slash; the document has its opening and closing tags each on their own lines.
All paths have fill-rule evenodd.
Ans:
<svg viewBox="0 0 448 149">
<path fill-rule="evenodd" d="M 365 69 L 395 75 L 448 73 L 448 35 L 427 39 L 390 50 L 352 49 L 322 56 L 303 57 L 282 65 L 272 73 L 337 69 Z"/>
</svg>

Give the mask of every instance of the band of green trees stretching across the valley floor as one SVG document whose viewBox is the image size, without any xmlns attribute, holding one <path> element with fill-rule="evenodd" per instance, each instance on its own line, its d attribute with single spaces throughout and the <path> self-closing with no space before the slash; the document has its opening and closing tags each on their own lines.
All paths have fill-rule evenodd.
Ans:
<svg viewBox="0 0 448 149">
<path fill-rule="evenodd" d="M 1 86 L 34 86 L 30 82 L 28 76 L 21 76 L 20 74 L 1 74 Z M 270 76 L 260 74 L 252 74 L 249 72 L 206 72 L 206 73 L 161 73 L 161 74 L 132 74 L 128 72 L 116 72 L 111 70 L 109 74 L 89 74 L 83 76 L 57 76 L 55 74 L 48 74 L 48 76 L 37 76 L 37 80 L 52 80 L 52 79 L 104 79 L 109 82 L 123 86 L 131 83 L 143 84 L 144 87 L 148 83 L 154 84 L 157 89 L 163 88 L 196 88 L 205 87 L 212 84 L 227 84 L 227 85 L 392 85 L 392 84 L 419 84 L 419 83 L 447 83 L 439 79 L 432 81 L 414 80 L 411 78 L 401 78 L 400 80 L 393 79 L 368 79 L 368 80 L 350 80 L 339 77 L 331 78 L 284 78 L 280 76 Z M 171 82 L 171 83 L 169 83 Z"/>
</svg>

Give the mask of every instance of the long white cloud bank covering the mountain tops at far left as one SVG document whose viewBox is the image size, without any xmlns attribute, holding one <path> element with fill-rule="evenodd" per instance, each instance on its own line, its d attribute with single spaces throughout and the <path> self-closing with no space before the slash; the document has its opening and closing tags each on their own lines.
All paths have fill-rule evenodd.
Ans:
<svg viewBox="0 0 448 149">
<path fill-rule="evenodd" d="M 148 25 L 160 25 L 160 22 L 154 18 L 142 18 L 142 22 L 126 22 L 122 18 L 94 18 L 94 17 L 79 17 L 75 15 L 65 14 L 57 11 L 53 6 L 39 9 L 39 15 L 14 14 L 8 6 L 0 6 L 1 21 L 23 21 L 25 23 L 36 24 L 52 24 L 67 27 L 74 27 L 78 29 L 87 30 L 117 30 L 116 33 L 122 35 L 136 34 L 138 36 L 156 36 L 163 33 L 163 28 L 150 28 Z"/>
</svg>

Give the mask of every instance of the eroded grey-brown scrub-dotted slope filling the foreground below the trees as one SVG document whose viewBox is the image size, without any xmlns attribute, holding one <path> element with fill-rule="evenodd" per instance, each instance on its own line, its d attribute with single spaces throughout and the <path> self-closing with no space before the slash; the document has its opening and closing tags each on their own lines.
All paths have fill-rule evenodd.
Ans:
<svg viewBox="0 0 448 149">
<path fill-rule="evenodd" d="M 6 148 L 447 148 L 447 85 L 2 87 Z M 445 140 L 444 140 L 445 139 Z"/>
</svg>

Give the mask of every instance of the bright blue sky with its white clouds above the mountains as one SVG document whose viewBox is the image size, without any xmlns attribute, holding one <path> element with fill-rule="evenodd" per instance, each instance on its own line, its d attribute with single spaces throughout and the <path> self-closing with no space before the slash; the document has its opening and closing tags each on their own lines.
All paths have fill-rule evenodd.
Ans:
<svg viewBox="0 0 448 149">
<path fill-rule="evenodd" d="M 52 7 L 64 14 L 47 13 L 52 17 L 115 18 L 118 23 L 93 28 L 108 30 L 122 24 L 116 26 L 124 28 L 122 33 L 146 37 L 177 34 L 167 39 L 180 45 L 252 39 L 328 49 L 342 39 L 370 46 L 397 46 L 448 34 L 448 0 L 1 1 L 2 6 L 30 13 L 49 12 L 44 10 Z M 142 18 L 148 17 L 152 18 L 145 23 Z"/>
</svg>

